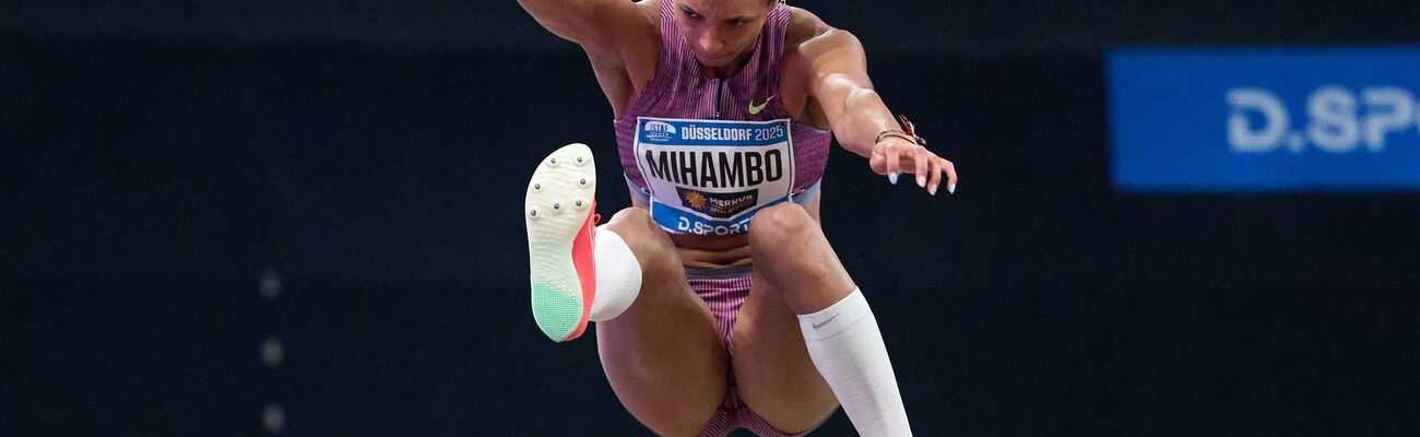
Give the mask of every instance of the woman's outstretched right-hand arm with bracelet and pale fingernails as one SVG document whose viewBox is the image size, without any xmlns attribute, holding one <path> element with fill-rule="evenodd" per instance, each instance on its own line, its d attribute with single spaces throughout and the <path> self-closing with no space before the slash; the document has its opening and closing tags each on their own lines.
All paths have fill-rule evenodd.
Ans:
<svg viewBox="0 0 1420 437">
<path fill-rule="evenodd" d="M 873 172 L 889 175 L 893 183 L 897 173 L 913 173 L 919 186 L 936 194 L 946 175 L 947 192 L 956 192 L 957 170 L 950 160 L 899 136 L 879 139 L 879 133 L 902 126 L 873 91 L 858 37 L 832 28 L 804 41 L 799 54 L 809 74 L 808 92 L 824 109 L 843 149 L 868 157 Z"/>
</svg>

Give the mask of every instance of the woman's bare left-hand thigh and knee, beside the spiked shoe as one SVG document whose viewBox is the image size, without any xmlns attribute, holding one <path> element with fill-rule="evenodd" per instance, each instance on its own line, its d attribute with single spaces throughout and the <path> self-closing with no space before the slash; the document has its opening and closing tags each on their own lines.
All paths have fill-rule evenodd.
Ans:
<svg viewBox="0 0 1420 437">
<path fill-rule="evenodd" d="M 622 218 L 630 226 L 616 223 Z M 640 233 L 655 226 L 643 218 L 618 214 L 609 226 L 628 240 L 665 238 L 655 234 L 659 228 Z M 626 312 L 595 325 L 596 348 L 606 380 L 632 416 L 657 434 L 694 434 L 724 399 L 728 358 L 714 316 L 690 289 L 679 258 L 666 261 L 643 270 L 640 294 Z"/>
</svg>

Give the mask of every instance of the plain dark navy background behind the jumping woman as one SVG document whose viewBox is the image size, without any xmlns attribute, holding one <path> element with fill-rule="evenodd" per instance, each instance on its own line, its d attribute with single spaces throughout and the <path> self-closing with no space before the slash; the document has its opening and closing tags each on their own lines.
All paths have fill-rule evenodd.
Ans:
<svg viewBox="0 0 1420 437">
<path fill-rule="evenodd" d="M 1420 433 L 1420 196 L 1116 193 L 1102 71 L 1414 44 L 1411 1 L 794 4 L 961 170 L 824 182 L 917 434 Z M 0 3 L 0 434 L 646 434 L 528 315 L 525 177 L 618 180 L 611 118 L 514 1 Z"/>
</svg>

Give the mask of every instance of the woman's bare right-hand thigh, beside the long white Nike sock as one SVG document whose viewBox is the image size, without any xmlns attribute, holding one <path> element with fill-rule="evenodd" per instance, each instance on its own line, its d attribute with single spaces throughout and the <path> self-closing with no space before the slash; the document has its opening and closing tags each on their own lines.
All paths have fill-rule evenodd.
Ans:
<svg viewBox="0 0 1420 437">
<path fill-rule="evenodd" d="M 734 323 L 733 369 L 740 399 L 770 426 L 799 433 L 838 407 L 804 346 L 798 316 L 755 270 Z"/>
</svg>

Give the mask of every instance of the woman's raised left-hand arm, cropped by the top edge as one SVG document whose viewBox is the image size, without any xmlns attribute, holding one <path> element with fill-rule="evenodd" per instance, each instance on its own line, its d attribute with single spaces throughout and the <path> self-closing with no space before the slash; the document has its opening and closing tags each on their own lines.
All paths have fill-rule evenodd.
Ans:
<svg viewBox="0 0 1420 437">
<path fill-rule="evenodd" d="M 626 0 L 518 0 L 518 4 L 544 28 L 582 47 L 615 44 L 618 26 L 639 14 L 636 4 Z"/>
</svg>

